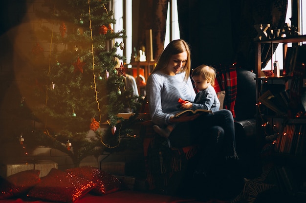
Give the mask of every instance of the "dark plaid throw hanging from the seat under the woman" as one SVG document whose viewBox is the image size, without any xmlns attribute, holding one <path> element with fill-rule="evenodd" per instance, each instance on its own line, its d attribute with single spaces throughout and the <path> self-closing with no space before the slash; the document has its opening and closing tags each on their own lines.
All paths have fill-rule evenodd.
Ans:
<svg viewBox="0 0 306 203">
<path fill-rule="evenodd" d="M 152 121 L 144 121 L 140 127 L 144 137 L 143 147 L 147 182 L 150 190 L 163 191 L 171 177 L 188 164 L 197 154 L 198 146 L 169 148 L 165 138 L 156 134 Z"/>
</svg>

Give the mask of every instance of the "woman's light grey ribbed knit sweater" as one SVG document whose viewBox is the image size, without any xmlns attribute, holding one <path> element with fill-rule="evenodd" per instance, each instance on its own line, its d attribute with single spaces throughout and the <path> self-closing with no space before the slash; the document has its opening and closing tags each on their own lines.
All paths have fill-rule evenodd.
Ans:
<svg viewBox="0 0 306 203">
<path fill-rule="evenodd" d="M 196 92 L 191 79 L 184 81 L 185 73 L 174 76 L 155 72 L 148 77 L 146 93 L 149 101 L 149 111 L 154 124 L 169 125 L 169 119 L 175 113 L 182 111 L 178 98 L 193 101 Z"/>
</svg>

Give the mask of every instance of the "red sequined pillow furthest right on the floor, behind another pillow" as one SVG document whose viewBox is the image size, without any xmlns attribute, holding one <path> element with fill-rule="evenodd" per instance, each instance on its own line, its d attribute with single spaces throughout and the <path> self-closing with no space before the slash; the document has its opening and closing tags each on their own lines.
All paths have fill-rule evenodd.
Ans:
<svg viewBox="0 0 306 203">
<path fill-rule="evenodd" d="M 81 166 L 67 169 L 67 172 L 85 178 L 97 184 L 90 193 L 105 195 L 120 189 L 121 182 L 113 175 L 93 166 Z"/>
</svg>

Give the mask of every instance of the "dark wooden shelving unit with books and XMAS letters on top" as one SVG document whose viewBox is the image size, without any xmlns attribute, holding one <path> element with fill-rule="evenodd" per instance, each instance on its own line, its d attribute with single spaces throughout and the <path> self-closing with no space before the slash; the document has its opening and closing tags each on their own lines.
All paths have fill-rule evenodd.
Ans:
<svg viewBox="0 0 306 203">
<path fill-rule="evenodd" d="M 284 43 L 284 61 L 286 58 L 287 44 L 299 43 L 306 41 L 306 36 L 297 36 L 291 38 L 277 38 L 273 40 L 256 41 L 257 53 L 256 53 L 256 103 L 259 104 L 261 96 L 264 92 L 269 91 L 276 85 L 289 88 L 291 76 L 281 77 L 261 77 L 261 46 L 262 43 Z M 304 78 L 306 75 L 304 74 Z M 305 80 L 304 80 L 305 81 Z M 264 105 L 264 104 L 261 104 Z M 268 105 L 268 104 L 266 104 Z M 266 106 L 267 107 L 267 106 Z M 289 111 L 288 111 L 289 112 Z M 271 122 L 270 126 L 275 123 L 282 126 L 277 139 L 273 142 L 274 152 L 272 159 L 270 160 L 276 166 L 274 167 L 274 175 L 278 180 L 278 187 L 281 192 L 284 192 L 292 198 L 292 200 L 306 200 L 306 117 L 292 118 L 292 115 L 278 114 L 275 111 L 271 111 L 271 108 L 266 108 L 264 113 L 258 108 L 257 110 L 257 137 L 259 146 L 266 142 L 265 136 L 267 134 L 262 133 L 263 120 Z M 273 127 L 270 127 L 269 133 L 273 133 Z M 265 131 L 265 130 L 264 130 Z M 268 134 L 269 135 L 269 134 Z M 302 138 L 303 139 L 300 139 Z M 298 139 L 299 144 L 298 144 Z M 298 146 L 301 147 L 302 152 L 297 153 Z"/>
</svg>

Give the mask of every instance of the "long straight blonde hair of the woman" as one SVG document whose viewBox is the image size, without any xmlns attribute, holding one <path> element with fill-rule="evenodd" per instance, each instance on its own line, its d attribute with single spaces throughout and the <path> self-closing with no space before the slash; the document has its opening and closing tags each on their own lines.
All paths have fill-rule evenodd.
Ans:
<svg viewBox="0 0 306 203">
<path fill-rule="evenodd" d="M 182 68 L 181 72 L 186 72 L 185 80 L 189 78 L 190 75 L 190 48 L 187 42 L 185 42 L 183 39 L 175 39 L 171 41 L 167 47 L 164 49 L 164 51 L 159 56 L 159 59 L 157 61 L 157 64 L 155 68 L 153 69 L 152 73 L 156 71 L 160 71 L 167 68 L 167 65 L 170 61 L 170 58 L 172 55 L 177 55 L 180 53 L 186 52 L 187 53 L 187 61 L 185 66 Z"/>
</svg>

